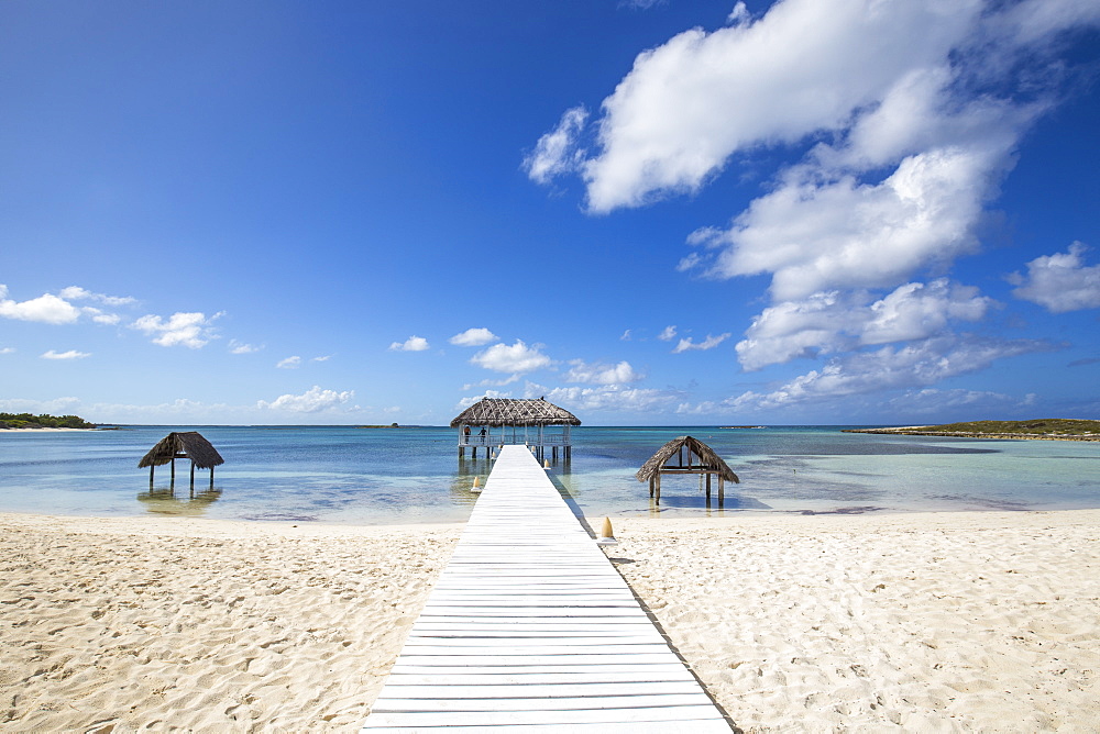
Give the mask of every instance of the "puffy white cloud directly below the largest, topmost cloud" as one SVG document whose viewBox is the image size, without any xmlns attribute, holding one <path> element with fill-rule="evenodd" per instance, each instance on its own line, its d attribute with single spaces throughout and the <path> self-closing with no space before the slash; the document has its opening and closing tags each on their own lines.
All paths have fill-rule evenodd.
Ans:
<svg viewBox="0 0 1100 734">
<path fill-rule="evenodd" d="M 777 299 L 891 287 L 977 248 L 982 203 L 1009 163 L 1007 149 L 990 147 L 913 155 L 881 184 L 795 168 L 729 230 L 700 231 L 692 241 L 718 249 L 711 275 L 770 273 Z"/>
</svg>

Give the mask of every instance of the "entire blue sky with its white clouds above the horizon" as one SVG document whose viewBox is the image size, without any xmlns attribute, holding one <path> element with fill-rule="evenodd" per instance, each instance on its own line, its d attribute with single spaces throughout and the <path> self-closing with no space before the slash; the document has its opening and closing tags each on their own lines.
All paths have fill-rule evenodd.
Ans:
<svg viewBox="0 0 1100 734">
<path fill-rule="evenodd" d="M 0 410 L 1100 418 L 1094 0 L 0 4 Z"/>
</svg>

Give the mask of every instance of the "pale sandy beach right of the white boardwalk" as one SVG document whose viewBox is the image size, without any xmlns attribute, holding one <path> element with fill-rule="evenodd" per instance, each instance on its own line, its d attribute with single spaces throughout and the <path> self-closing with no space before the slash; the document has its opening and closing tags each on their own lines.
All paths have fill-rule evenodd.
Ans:
<svg viewBox="0 0 1100 734">
<path fill-rule="evenodd" d="M 746 731 L 1100 731 L 1100 511 L 616 534 L 609 555 Z"/>
</svg>

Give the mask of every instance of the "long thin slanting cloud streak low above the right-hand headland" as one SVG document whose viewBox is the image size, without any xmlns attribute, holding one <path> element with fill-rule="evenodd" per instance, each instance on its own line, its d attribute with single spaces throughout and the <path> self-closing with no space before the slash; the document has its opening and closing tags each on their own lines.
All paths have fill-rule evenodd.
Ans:
<svg viewBox="0 0 1100 734">
<path fill-rule="evenodd" d="M 975 372 L 994 360 L 1053 348 L 1047 342 L 997 341 L 971 335 L 924 340 L 904 347 L 882 347 L 829 360 L 769 393 L 745 392 L 725 403 L 734 409 L 783 408 L 816 400 L 915 388 Z"/>
</svg>

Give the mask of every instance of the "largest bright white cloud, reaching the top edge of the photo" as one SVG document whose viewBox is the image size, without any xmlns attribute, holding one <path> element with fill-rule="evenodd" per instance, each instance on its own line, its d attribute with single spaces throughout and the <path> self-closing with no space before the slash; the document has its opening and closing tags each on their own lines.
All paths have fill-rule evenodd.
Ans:
<svg viewBox="0 0 1100 734">
<path fill-rule="evenodd" d="M 732 154 L 843 129 L 913 69 L 942 66 L 981 3 L 787 0 L 756 22 L 685 31 L 640 54 L 604 100 L 586 160 L 597 212 L 693 191 Z M 675 110 L 676 114 L 669 114 Z"/>
</svg>

